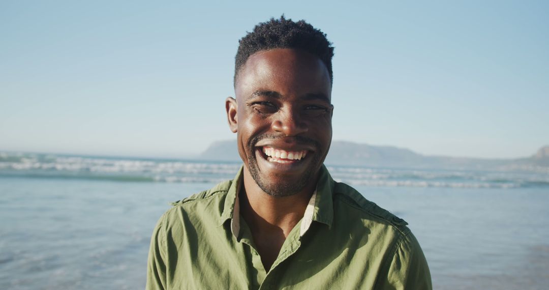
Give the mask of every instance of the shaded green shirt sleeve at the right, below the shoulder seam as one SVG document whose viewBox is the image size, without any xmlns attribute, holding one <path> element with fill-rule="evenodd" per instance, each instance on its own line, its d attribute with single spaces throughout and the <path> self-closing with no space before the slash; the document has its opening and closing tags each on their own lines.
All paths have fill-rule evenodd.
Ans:
<svg viewBox="0 0 549 290">
<path fill-rule="evenodd" d="M 411 232 L 397 248 L 387 277 L 379 281 L 379 289 L 433 289 L 427 260 Z"/>
</svg>

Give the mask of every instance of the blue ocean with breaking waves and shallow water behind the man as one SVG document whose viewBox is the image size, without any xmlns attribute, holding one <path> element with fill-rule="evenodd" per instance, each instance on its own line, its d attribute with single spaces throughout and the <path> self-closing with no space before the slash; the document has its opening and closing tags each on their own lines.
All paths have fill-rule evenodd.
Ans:
<svg viewBox="0 0 549 290">
<path fill-rule="evenodd" d="M 142 289 L 169 203 L 238 163 L 0 153 L 0 289 Z M 327 166 L 406 220 L 435 289 L 546 289 L 549 170 Z"/>
</svg>

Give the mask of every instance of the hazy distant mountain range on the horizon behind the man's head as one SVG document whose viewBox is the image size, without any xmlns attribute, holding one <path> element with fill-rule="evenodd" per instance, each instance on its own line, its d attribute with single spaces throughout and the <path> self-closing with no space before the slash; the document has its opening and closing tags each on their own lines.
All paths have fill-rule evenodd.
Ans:
<svg viewBox="0 0 549 290">
<path fill-rule="evenodd" d="M 237 142 L 234 140 L 212 143 L 199 158 L 219 161 L 241 160 L 238 156 Z M 422 155 L 406 148 L 333 141 L 325 163 L 375 167 L 535 170 L 537 166 L 549 167 L 549 146 L 540 148 L 531 157 L 481 159 Z"/>
</svg>

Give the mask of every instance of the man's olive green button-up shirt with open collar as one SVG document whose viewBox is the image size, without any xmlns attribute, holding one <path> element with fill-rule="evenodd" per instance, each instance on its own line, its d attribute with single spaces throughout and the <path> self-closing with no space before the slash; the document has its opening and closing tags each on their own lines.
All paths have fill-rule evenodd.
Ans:
<svg viewBox="0 0 549 290">
<path fill-rule="evenodd" d="M 432 289 L 407 223 L 323 166 L 305 215 L 266 272 L 232 181 L 174 203 L 153 232 L 147 289 Z"/>
</svg>

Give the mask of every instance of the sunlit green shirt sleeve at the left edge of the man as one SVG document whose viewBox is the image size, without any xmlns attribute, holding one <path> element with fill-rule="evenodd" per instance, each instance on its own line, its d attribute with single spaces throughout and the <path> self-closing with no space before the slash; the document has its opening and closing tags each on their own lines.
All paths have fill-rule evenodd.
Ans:
<svg viewBox="0 0 549 290">
<path fill-rule="evenodd" d="M 163 220 L 164 216 L 160 217 L 150 238 L 146 290 L 166 289 L 166 234 Z"/>
</svg>

